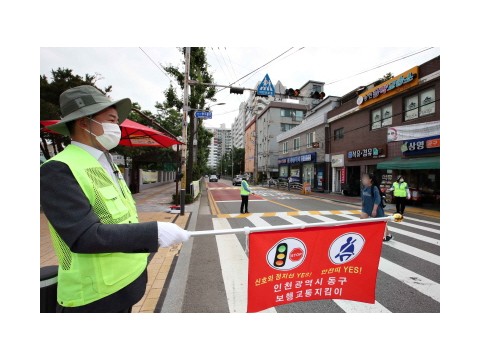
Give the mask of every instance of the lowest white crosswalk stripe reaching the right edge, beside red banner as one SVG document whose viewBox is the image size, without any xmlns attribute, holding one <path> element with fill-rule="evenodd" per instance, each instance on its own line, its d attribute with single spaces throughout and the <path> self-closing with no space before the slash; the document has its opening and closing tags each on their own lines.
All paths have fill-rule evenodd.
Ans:
<svg viewBox="0 0 480 360">
<path fill-rule="evenodd" d="M 380 258 L 379 269 L 422 294 L 431 297 L 433 300 L 440 302 L 440 284 L 384 258 Z"/>
</svg>

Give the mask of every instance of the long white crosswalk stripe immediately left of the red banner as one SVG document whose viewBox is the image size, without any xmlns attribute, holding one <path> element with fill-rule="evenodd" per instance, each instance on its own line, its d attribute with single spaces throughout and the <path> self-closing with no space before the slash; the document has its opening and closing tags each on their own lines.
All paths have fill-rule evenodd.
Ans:
<svg viewBox="0 0 480 360">
<path fill-rule="evenodd" d="M 227 219 L 213 218 L 214 229 L 229 229 Z M 232 312 L 247 311 L 248 258 L 235 234 L 216 235 L 223 283 L 227 294 L 228 309 Z M 275 308 L 263 312 L 277 312 Z"/>
</svg>

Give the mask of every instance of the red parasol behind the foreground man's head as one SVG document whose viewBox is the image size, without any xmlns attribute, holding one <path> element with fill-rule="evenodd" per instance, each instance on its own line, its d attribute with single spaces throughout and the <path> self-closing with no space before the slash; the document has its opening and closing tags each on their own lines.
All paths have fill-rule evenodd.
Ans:
<svg viewBox="0 0 480 360">
<path fill-rule="evenodd" d="M 55 133 L 55 131 L 49 130 L 46 127 L 56 124 L 59 121 L 60 120 L 42 120 L 40 121 L 40 130 Z M 120 129 L 122 129 L 120 145 L 124 146 L 153 146 L 166 148 L 171 147 L 172 145 L 182 144 L 180 141 L 167 134 L 129 119 L 125 119 L 125 121 L 122 122 Z"/>
</svg>

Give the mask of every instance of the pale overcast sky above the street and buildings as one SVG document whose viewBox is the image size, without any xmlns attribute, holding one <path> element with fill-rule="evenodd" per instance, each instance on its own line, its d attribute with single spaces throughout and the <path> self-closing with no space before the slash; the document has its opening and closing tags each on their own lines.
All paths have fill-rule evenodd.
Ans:
<svg viewBox="0 0 480 360">
<path fill-rule="evenodd" d="M 364 74 L 352 76 L 372 69 L 378 65 L 410 55 L 424 48 L 308 48 L 295 47 L 279 59 L 259 70 L 253 76 L 247 76 L 236 85 L 254 87 L 266 73 L 273 83 L 280 80 L 287 88 L 299 88 L 308 80 L 325 82 L 325 94 L 341 96 L 360 85 L 366 85 L 387 72 L 394 75 L 420 65 L 440 54 L 439 48 L 433 48 L 417 55 L 395 61 L 373 69 Z M 177 48 L 142 49 L 157 63 L 162 65 L 181 65 L 182 54 Z M 217 84 L 230 84 L 252 70 L 277 57 L 285 48 L 238 48 L 208 47 L 208 62 Z M 138 102 L 142 109 L 154 112 L 155 102 L 164 100 L 163 92 L 170 80 L 141 51 L 140 48 L 41 48 L 40 74 L 50 75 L 52 69 L 70 68 L 79 75 L 101 75 L 99 87 L 113 86 L 111 97 L 119 99 L 129 97 Z M 336 82 L 337 80 L 341 80 Z M 335 82 L 329 84 L 331 82 Z M 181 95 L 181 93 L 179 93 Z M 229 94 L 228 89 L 217 95 L 217 102 L 225 105 L 212 108 L 213 119 L 206 121 L 207 126 L 219 127 L 233 123 L 241 101 L 248 98 L 243 95 Z"/>
</svg>

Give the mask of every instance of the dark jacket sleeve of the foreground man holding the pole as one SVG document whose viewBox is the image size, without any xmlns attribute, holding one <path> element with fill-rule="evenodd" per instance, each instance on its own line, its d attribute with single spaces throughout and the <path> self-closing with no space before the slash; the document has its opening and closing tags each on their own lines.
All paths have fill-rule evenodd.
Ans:
<svg viewBox="0 0 480 360">
<path fill-rule="evenodd" d="M 72 252 L 156 252 L 155 221 L 102 224 L 68 165 L 49 161 L 40 168 L 40 204 L 52 226 Z"/>
</svg>

